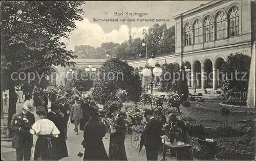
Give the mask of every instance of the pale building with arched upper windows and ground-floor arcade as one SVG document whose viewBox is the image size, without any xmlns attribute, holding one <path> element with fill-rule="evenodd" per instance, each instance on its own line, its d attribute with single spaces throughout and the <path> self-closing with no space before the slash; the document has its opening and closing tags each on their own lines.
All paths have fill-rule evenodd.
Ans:
<svg viewBox="0 0 256 161">
<path fill-rule="evenodd" d="M 190 2 L 193 3 L 193 2 Z M 176 52 L 160 55 L 155 59 L 160 65 L 183 62 L 191 69 L 188 86 L 206 89 L 218 88 L 221 66 L 230 53 L 244 53 L 251 56 L 251 42 L 255 40 L 255 2 L 212 1 L 173 17 L 176 21 Z M 99 68 L 105 60 L 74 60 L 72 68 Z M 141 76 L 145 58 L 129 61 Z M 67 74 L 69 68 L 53 67 L 56 72 Z M 65 84 L 65 78 L 56 84 Z"/>
</svg>

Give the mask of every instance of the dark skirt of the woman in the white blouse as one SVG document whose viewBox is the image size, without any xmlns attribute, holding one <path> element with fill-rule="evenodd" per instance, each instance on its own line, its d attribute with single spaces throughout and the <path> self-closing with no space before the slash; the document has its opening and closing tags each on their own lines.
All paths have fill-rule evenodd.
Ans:
<svg viewBox="0 0 256 161">
<path fill-rule="evenodd" d="M 56 160 L 56 140 L 49 135 L 40 135 L 36 140 L 34 160 Z"/>
</svg>

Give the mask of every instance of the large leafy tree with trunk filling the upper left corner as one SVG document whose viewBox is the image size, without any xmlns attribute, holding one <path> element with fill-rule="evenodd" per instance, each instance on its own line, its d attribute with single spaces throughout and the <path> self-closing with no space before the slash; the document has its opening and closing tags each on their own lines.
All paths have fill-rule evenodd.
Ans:
<svg viewBox="0 0 256 161">
<path fill-rule="evenodd" d="M 61 38 L 68 38 L 76 28 L 75 20 L 82 20 L 80 8 L 84 2 L 74 1 L 4 1 L 1 3 L 1 93 L 9 89 L 8 127 L 16 113 L 14 86 L 39 84 L 39 76 L 46 79 L 52 65 L 74 65 L 77 58 L 66 50 Z M 11 78 L 12 73 L 26 76 Z M 28 81 L 34 73 L 33 81 Z M 38 76 L 39 75 L 39 76 Z M 15 76 L 15 75 L 14 75 Z M 22 81 L 23 80 L 23 81 Z M 10 136 L 12 133 L 10 133 Z"/>
</svg>

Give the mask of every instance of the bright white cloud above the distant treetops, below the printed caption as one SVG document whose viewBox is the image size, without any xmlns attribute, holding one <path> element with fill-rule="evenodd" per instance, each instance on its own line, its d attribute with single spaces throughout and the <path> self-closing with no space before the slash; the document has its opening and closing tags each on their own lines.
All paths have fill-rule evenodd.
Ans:
<svg viewBox="0 0 256 161">
<path fill-rule="evenodd" d="M 148 26 L 129 29 L 127 25 L 122 24 L 118 30 L 105 33 L 98 23 L 90 22 L 88 18 L 84 18 L 83 21 L 77 21 L 76 26 L 77 29 L 70 34 L 70 39 L 63 40 L 68 43 L 67 49 L 70 50 L 73 50 L 75 45 L 99 47 L 104 42 L 122 43 L 125 40 L 129 40 L 130 33 L 133 39 L 143 38 L 143 29 L 148 30 Z"/>
</svg>

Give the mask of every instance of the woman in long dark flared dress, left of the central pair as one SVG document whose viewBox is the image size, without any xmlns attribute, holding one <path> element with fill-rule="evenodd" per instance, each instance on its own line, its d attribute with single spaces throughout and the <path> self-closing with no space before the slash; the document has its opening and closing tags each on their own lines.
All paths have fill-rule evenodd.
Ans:
<svg viewBox="0 0 256 161">
<path fill-rule="evenodd" d="M 106 128 L 102 122 L 99 122 L 97 111 L 88 108 L 90 120 L 84 126 L 82 146 L 84 149 L 83 160 L 108 160 L 108 154 L 102 138 L 105 136 Z"/>
</svg>

